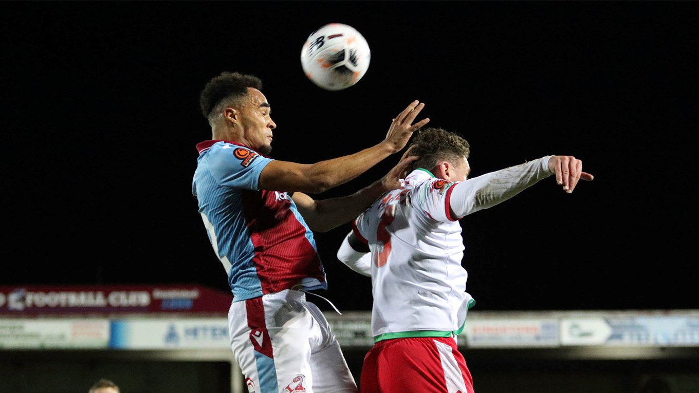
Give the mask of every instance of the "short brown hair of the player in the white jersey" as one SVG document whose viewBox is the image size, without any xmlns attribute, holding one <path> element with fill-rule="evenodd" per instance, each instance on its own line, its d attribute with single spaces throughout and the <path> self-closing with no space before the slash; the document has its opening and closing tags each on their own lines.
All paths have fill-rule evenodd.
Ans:
<svg viewBox="0 0 699 393">
<path fill-rule="evenodd" d="M 412 164 L 413 168 L 431 169 L 443 159 L 457 160 L 468 158 L 471 153 L 468 141 L 459 134 L 441 128 L 428 127 L 420 129 L 412 137 L 410 152 L 420 158 Z"/>
</svg>

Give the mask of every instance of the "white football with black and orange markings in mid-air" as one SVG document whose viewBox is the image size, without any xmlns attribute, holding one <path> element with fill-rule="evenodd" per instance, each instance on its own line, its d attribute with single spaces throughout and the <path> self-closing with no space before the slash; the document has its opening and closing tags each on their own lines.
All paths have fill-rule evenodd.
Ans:
<svg viewBox="0 0 699 393">
<path fill-rule="evenodd" d="M 325 90 L 343 90 L 359 82 L 371 51 L 354 27 L 329 23 L 313 31 L 301 49 L 303 72 Z"/>
</svg>

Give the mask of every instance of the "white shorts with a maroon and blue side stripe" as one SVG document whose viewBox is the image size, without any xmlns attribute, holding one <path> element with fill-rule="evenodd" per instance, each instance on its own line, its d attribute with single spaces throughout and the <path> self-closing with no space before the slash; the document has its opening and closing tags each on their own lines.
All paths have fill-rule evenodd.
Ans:
<svg viewBox="0 0 699 393">
<path fill-rule="evenodd" d="M 231 349 L 250 392 L 357 392 L 328 321 L 304 292 L 234 301 L 228 320 Z"/>
</svg>

